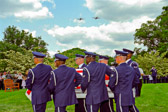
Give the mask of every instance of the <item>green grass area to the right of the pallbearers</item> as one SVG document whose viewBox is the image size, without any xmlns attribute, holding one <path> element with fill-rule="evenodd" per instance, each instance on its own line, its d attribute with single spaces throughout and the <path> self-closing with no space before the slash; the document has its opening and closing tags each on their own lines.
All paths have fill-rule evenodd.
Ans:
<svg viewBox="0 0 168 112">
<path fill-rule="evenodd" d="M 136 106 L 140 112 L 168 112 L 168 83 L 144 84 Z"/>
</svg>

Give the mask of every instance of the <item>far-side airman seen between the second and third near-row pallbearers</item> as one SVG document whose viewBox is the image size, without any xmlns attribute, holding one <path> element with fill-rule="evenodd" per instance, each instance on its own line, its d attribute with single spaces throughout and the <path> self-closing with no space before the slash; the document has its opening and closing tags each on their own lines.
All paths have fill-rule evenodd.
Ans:
<svg viewBox="0 0 168 112">
<path fill-rule="evenodd" d="M 84 63 L 84 56 L 81 54 L 76 54 L 75 62 L 78 65 L 77 69 L 83 69 L 84 67 L 86 67 L 86 64 Z M 75 105 L 75 112 L 86 112 L 86 104 L 84 98 L 78 99 L 78 104 Z"/>
</svg>

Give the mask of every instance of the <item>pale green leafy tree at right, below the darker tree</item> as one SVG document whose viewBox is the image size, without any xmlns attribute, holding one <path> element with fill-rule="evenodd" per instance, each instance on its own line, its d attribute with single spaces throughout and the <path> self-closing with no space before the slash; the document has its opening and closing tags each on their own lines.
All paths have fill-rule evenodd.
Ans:
<svg viewBox="0 0 168 112">
<path fill-rule="evenodd" d="M 145 53 L 144 55 L 138 55 L 135 59 L 138 62 L 139 67 L 144 70 L 146 75 L 151 74 L 150 70 L 152 66 L 155 66 L 157 69 L 158 76 L 168 75 L 168 59 L 165 58 L 165 55 L 168 51 L 164 53 L 159 53 L 152 51 L 151 53 Z"/>
</svg>

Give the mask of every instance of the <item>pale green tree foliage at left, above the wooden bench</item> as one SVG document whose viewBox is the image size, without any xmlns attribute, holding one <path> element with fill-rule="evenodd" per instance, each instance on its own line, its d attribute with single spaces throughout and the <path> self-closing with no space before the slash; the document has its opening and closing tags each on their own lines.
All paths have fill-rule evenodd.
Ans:
<svg viewBox="0 0 168 112">
<path fill-rule="evenodd" d="M 0 59 L 0 71 L 10 71 L 11 73 L 14 71 L 20 71 L 25 73 L 27 70 L 32 68 L 34 66 L 32 60 L 33 55 L 31 51 L 25 50 L 24 52 L 24 55 L 12 50 L 1 52 L 0 55 L 3 57 Z"/>
</svg>

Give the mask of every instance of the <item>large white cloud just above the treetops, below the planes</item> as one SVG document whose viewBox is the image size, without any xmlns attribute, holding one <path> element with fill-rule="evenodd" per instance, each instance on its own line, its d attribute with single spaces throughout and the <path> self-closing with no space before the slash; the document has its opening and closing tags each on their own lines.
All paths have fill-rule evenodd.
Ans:
<svg viewBox="0 0 168 112">
<path fill-rule="evenodd" d="M 98 27 L 55 25 L 45 31 L 56 39 L 57 48 L 65 50 L 79 47 L 102 55 L 113 56 L 114 49 L 123 47 L 134 49 L 135 29 L 140 28 L 141 24 L 147 20 L 152 20 L 152 18 L 144 16 L 131 22 L 111 22 Z"/>
</svg>

